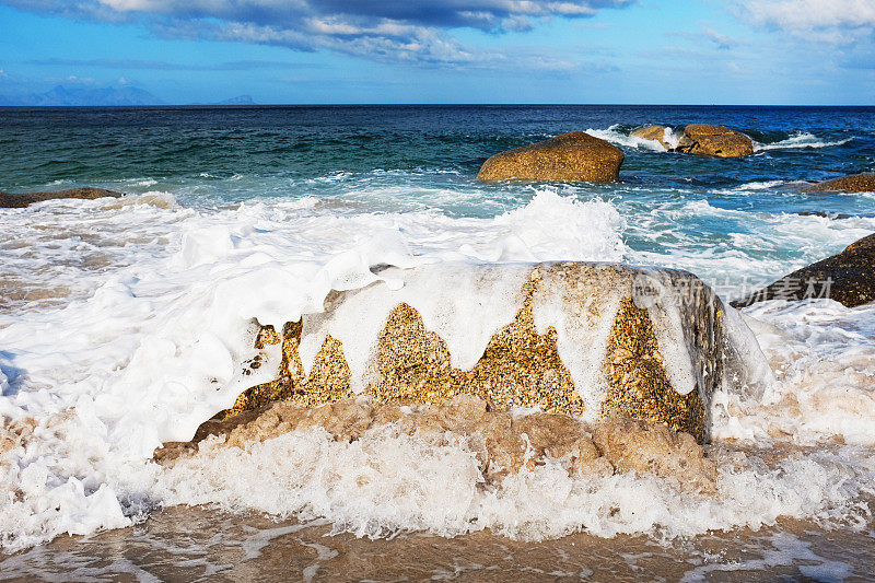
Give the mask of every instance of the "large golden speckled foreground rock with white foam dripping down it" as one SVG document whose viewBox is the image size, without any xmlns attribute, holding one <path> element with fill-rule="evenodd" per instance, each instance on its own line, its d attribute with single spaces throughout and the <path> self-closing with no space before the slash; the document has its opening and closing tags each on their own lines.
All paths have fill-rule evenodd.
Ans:
<svg viewBox="0 0 875 583">
<path fill-rule="evenodd" d="M 738 347 L 756 345 L 737 339 L 737 314 L 685 271 L 443 264 L 380 275 L 394 284 L 332 292 L 324 313 L 282 333 L 261 327 L 256 348 L 281 346 L 277 378 L 226 415 L 278 400 L 442 405 L 472 395 L 498 411 L 619 411 L 702 442 L 711 395 L 740 374 Z"/>
</svg>

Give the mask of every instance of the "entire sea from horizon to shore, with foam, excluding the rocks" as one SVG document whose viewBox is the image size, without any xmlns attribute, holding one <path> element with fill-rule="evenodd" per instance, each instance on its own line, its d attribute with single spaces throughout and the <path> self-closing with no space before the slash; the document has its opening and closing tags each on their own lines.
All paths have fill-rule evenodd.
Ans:
<svg viewBox="0 0 875 583">
<path fill-rule="evenodd" d="M 755 154 L 630 136 L 692 123 Z M 488 156 L 573 130 L 622 149 L 620 182 L 476 180 Z M 252 318 L 318 311 L 372 266 L 616 261 L 732 300 L 875 232 L 875 193 L 800 193 L 873 171 L 875 107 L 0 108 L 0 190 L 132 195 L 0 209 L 0 579 L 867 579 L 871 305 L 742 312 L 773 377 L 712 399 L 715 497 L 549 465 L 485 488 L 465 447 L 386 435 L 151 458 L 269 380 L 236 374 Z M 372 489 L 350 482 L 363 467 Z"/>
</svg>

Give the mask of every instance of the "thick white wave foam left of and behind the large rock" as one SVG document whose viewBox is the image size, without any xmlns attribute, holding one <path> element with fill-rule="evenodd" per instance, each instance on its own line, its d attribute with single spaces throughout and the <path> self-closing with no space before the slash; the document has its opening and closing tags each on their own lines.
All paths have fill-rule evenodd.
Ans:
<svg viewBox="0 0 875 583">
<path fill-rule="evenodd" d="M 242 374 L 254 317 L 319 312 L 331 289 L 376 281 L 378 264 L 619 260 L 628 250 L 609 202 L 555 189 L 491 219 L 340 215 L 317 212 L 314 199 L 218 210 L 63 202 L 0 213 L 0 246 L 13 252 L 5 269 L 34 288 L 71 288 L 52 305 L 0 308 L 11 435 L 0 440 L 11 444 L 0 485 L 20 492 L 0 500 L 7 548 L 124 526 L 161 503 L 150 493 L 153 450 L 189 439 L 276 372 Z M 19 425 L 40 429 L 22 442 Z"/>
</svg>

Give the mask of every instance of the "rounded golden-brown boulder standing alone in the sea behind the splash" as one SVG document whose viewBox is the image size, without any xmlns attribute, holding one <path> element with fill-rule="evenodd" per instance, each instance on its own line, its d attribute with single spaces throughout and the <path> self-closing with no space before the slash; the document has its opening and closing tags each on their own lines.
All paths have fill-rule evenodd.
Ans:
<svg viewBox="0 0 875 583">
<path fill-rule="evenodd" d="M 493 155 L 480 167 L 480 180 L 567 180 L 610 183 L 619 178 L 619 148 L 582 131 Z"/>
</svg>

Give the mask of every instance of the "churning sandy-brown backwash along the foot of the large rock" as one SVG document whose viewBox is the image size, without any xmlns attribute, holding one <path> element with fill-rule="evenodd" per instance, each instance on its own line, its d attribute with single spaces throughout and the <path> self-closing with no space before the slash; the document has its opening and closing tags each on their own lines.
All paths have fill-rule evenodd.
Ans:
<svg viewBox="0 0 875 583">
<path fill-rule="evenodd" d="M 191 442 L 165 444 L 155 452 L 155 460 L 172 466 L 183 456 L 197 455 L 210 434 L 225 436 L 221 447 L 246 450 L 292 431 L 324 429 L 334 440 L 346 442 L 389 432 L 417 435 L 433 445 L 467 447 L 491 483 L 552 462 L 572 476 L 635 471 L 675 480 L 687 491 L 716 493 L 716 465 L 692 435 L 616 412 L 587 425 L 562 415 L 492 410 L 487 401 L 463 394 L 443 406 L 381 405 L 372 397 L 315 408 L 276 403 L 255 416 L 244 412 L 211 423 L 205 423 Z"/>
</svg>

